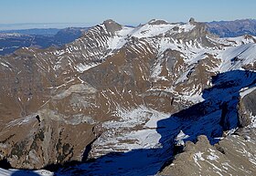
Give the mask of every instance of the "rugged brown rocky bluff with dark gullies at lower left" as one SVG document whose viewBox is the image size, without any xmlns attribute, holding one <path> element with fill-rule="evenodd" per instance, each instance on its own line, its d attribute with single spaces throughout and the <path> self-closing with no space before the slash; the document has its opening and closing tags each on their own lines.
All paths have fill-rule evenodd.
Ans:
<svg viewBox="0 0 256 176">
<path fill-rule="evenodd" d="M 25 169 L 81 160 L 84 146 L 96 138 L 92 128 L 88 118 L 68 121 L 60 113 L 44 109 L 38 115 L 6 124 L 1 131 L 4 140 L 0 141 L 0 156 L 2 160 L 7 157 L 12 166 Z"/>
</svg>

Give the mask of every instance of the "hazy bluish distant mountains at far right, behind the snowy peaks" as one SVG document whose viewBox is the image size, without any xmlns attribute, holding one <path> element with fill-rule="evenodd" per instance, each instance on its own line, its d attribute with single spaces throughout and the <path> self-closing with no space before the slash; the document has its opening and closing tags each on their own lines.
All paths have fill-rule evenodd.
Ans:
<svg viewBox="0 0 256 176">
<path fill-rule="evenodd" d="M 208 30 L 221 37 L 256 36 L 256 20 L 213 21 L 208 23 Z"/>
</svg>

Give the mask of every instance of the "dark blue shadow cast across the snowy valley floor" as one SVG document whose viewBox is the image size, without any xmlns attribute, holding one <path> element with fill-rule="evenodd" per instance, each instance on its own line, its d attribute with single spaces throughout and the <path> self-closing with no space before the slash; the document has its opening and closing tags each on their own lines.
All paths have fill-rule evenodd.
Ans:
<svg viewBox="0 0 256 176">
<path fill-rule="evenodd" d="M 59 170 L 56 175 L 154 175 L 176 154 L 176 136 L 180 130 L 189 136 L 186 140 L 196 142 L 197 136 L 206 135 L 214 144 L 224 130 L 239 127 L 240 89 L 252 88 L 255 83 L 256 73 L 251 71 L 234 70 L 213 77 L 214 86 L 203 90 L 203 102 L 157 122 L 160 148 L 112 152 L 96 160 L 71 161 L 46 169 Z"/>
</svg>

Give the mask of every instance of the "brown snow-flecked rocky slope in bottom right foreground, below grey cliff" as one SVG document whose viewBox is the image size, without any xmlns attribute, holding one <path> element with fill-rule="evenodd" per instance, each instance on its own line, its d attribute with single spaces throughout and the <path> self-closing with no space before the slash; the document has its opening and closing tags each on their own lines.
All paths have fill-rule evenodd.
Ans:
<svg viewBox="0 0 256 176">
<path fill-rule="evenodd" d="M 187 141 L 184 151 L 158 175 L 253 175 L 255 141 L 255 129 L 240 129 L 214 146 L 199 136 L 195 144 Z"/>
</svg>

